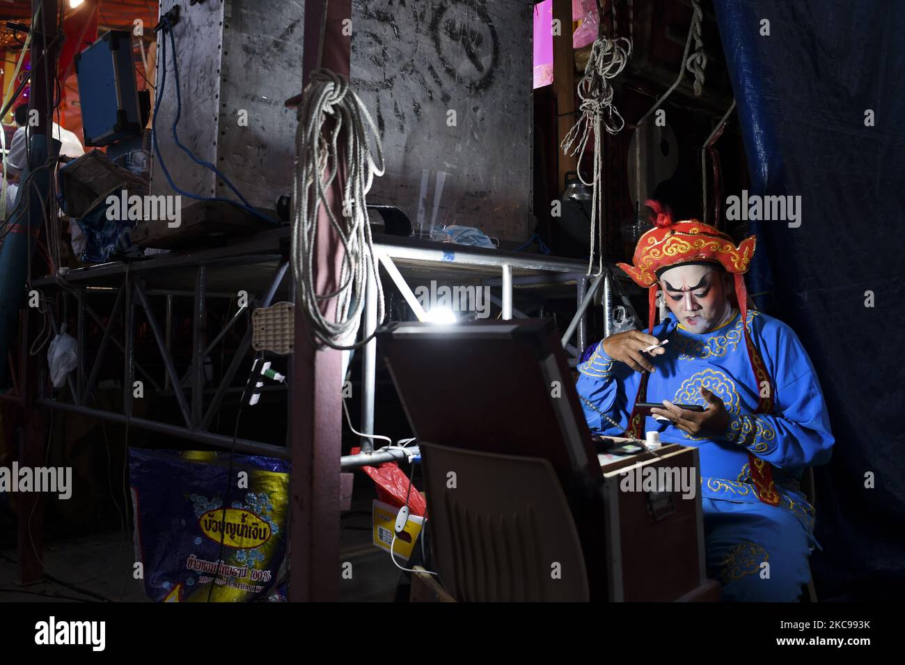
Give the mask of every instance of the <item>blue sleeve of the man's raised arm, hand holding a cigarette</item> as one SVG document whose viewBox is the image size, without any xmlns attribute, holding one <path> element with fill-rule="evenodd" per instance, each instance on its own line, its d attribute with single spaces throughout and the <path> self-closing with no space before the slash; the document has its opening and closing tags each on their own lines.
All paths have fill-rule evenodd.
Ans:
<svg viewBox="0 0 905 665">
<path fill-rule="evenodd" d="M 607 356 L 598 344 L 586 363 L 578 366 L 576 390 L 591 432 L 622 436 L 628 426 L 628 397 L 634 399 L 641 375 Z"/>
</svg>

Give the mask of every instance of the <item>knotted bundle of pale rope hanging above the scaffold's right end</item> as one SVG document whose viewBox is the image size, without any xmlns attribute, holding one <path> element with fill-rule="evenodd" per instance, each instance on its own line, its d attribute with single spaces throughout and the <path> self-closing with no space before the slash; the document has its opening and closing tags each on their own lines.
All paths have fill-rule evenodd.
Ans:
<svg viewBox="0 0 905 665">
<path fill-rule="evenodd" d="M 617 134 L 625 126 L 625 121 L 619 110 L 613 106 L 613 86 L 610 80 L 618 76 L 625 68 L 629 57 L 632 55 L 632 43 L 624 37 L 615 36 L 611 39 L 604 34 L 604 13 L 597 3 L 600 23 L 597 25 L 597 38 L 591 47 L 591 54 L 585 65 L 585 75 L 578 81 L 577 94 L 581 100 L 579 109 L 581 116 L 571 129 L 566 138 L 563 138 L 560 148 L 569 157 L 578 155 L 578 178 L 582 183 L 593 190 L 591 200 L 591 255 L 588 258 L 587 274 L 590 275 L 594 268 L 595 244 L 603 247 L 603 226 L 600 218 L 603 217 L 603 196 L 598 192 L 597 184 L 602 179 L 603 172 L 603 130 L 609 134 Z M 615 26 L 615 14 L 613 14 Z M 585 156 L 587 141 L 594 135 L 594 166 L 591 182 L 586 182 L 581 175 L 581 162 Z M 571 149 L 571 152 L 569 150 Z M 604 255 L 598 252 L 597 271 L 594 276 L 599 276 L 604 271 Z"/>
</svg>

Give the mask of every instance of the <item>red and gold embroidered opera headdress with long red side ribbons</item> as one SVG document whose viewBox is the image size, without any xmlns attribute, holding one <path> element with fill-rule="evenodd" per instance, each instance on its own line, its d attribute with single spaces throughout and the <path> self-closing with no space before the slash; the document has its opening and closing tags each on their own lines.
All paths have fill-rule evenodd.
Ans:
<svg viewBox="0 0 905 665">
<path fill-rule="evenodd" d="M 638 241 L 634 251 L 634 265 L 628 263 L 617 263 L 616 265 L 624 270 L 638 286 L 649 290 L 649 332 L 653 333 L 653 323 L 656 320 L 657 277 L 660 271 L 683 263 L 719 264 L 735 280 L 735 292 L 738 309 L 741 310 L 745 344 L 748 347 L 751 367 L 757 377 L 757 385 L 763 386 L 764 381 L 767 381 L 767 385 L 769 385 L 767 369 L 750 339 L 747 323 L 748 290 L 745 289 L 744 275 L 754 257 L 757 238 L 753 235 L 749 236 L 737 246 L 729 235 L 718 231 L 710 224 L 700 223 L 696 219 L 673 222 L 668 208 L 664 208 L 656 201 L 646 201 L 645 204 L 654 212 L 653 229 L 644 233 Z M 645 374 L 644 377 L 646 378 L 646 376 Z M 642 382 L 639 398 L 636 398 L 636 401 L 644 401 L 643 392 L 646 383 L 646 381 Z M 770 413 L 773 410 L 772 387 L 766 391 L 760 390 L 760 394 L 757 412 Z M 643 418 L 636 418 L 635 415 L 633 413 L 629 420 L 629 435 L 639 437 Z"/>
</svg>

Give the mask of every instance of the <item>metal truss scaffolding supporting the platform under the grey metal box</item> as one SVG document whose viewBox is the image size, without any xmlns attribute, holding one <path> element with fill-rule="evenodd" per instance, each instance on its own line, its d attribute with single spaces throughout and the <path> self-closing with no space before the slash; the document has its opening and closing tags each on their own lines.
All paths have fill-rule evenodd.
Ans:
<svg viewBox="0 0 905 665">
<path fill-rule="evenodd" d="M 218 247 L 201 251 L 167 252 L 152 255 L 151 258 L 130 263 L 110 262 L 69 271 L 64 277 L 53 276 L 34 280 L 33 286 L 44 290 L 63 290 L 76 302 L 78 321 L 76 337 L 79 345 L 79 364 L 75 378 L 68 377 L 71 402 L 57 399 L 41 399 L 38 404 L 61 411 L 83 413 L 115 423 L 130 423 L 152 432 L 203 442 L 208 445 L 232 449 L 232 437 L 210 432 L 214 415 L 223 404 L 224 396 L 230 391 L 241 390 L 234 386 L 236 374 L 252 343 L 252 328 L 249 326 L 233 355 L 222 380 L 216 385 L 213 397 L 205 404 L 204 359 L 234 328 L 244 309 L 236 312 L 227 325 L 212 341 L 205 343 L 205 318 L 207 303 L 212 298 L 231 298 L 237 290 L 249 294 L 248 310 L 254 307 L 268 307 L 278 293 L 284 299 L 292 299 L 290 280 L 284 280 L 288 263 L 286 246 L 290 229 L 283 227 Z M 481 286 L 498 290 L 491 293 L 491 301 L 500 308 L 501 318 L 528 318 L 529 315 L 513 306 L 516 289 L 561 288 L 574 284 L 576 287 L 576 316 L 563 336 L 563 346 L 574 357 L 573 364 L 586 347 L 586 311 L 603 285 L 605 297 L 611 292 L 609 271 L 595 277 L 586 276 L 583 261 L 569 259 L 547 259 L 537 255 L 515 252 L 495 252 L 481 248 L 451 245 L 449 243 L 422 241 L 395 236 L 377 236 L 375 249 L 386 275 L 405 298 L 417 318 L 424 318 L 410 283 L 419 280 L 476 280 Z M 214 288 L 212 289 L 212 282 Z M 590 282 L 590 283 L 589 283 Z M 111 292 L 116 297 L 109 309 L 107 323 L 99 311 L 104 300 L 110 300 Z M 157 319 L 151 300 L 165 299 L 166 316 Z M 191 298 L 192 309 L 192 359 L 188 370 L 179 375 L 172 349 L 173 301 L 176 298 Z M 136 309 L 140 308 L 157 344 L 165 374 L 154 376 L 141 366 L 135 358 L 134 334 Z M 364 335 L 376 328 L 376 287 L 368 281 L 366 291 Z M 54 332 L 59 332 L 57 316 L 51 312 Z M 93 363 L 85 366 L 85 323 L 88 318 L 104 329 L 103 337 Z M 120 341 L 115 333 L 115 324 L 122 320 L 125 331 Z M 611 320 L 611 314 L 606 317 Z M 607 326 L 609 328 L 609 325 Z M 576 344 L 570 343 L 577 331 Z M 376 395 L 377 338 L 373 338 L 362 351 L 361 362 L 361 431 L 374 433 Z M 105 411 L 91 406 L 92 396 L 98 384 L 100 369 L 109 356 L 110 346 L 119 349 L 124 357 L 123 366 L 123 413 Z M 147 381 L 157 394 L 176 400 L 181 423 L 163 423 L 132 413 L 132 385 L 136 377 Z M 292 386 L 288 396 L 291 404 Z M 249 454 L 262 454 L 281 459 L 289 459 L 290 451 L 284 445 L 237 439 L 234 449 Z M 386 461 L 377 456 L 368 461 L 374 451 L 370 439 L 363 438 L 359 459 L 344 457 L 342 468 L 351 468 L 368 463 Z"/>
</svg>

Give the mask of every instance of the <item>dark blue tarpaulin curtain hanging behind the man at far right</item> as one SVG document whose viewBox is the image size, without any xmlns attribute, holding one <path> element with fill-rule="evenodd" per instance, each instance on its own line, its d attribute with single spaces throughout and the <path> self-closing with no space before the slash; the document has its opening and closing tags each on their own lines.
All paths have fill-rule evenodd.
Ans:
<svg viewBox="0 0 905 665">
<path fill-rule="evenodd" d="M 801 337 L 830 411 L 833 459 L 815 470 L 824 548 L 812 557 L 817 595 L 897 598 L 905 592 L 905 2 L 714 5 L 750 193 L 802 197 L 800 227 L 757 225 L 748 286 L 768 291 L 765 309 Z M 769 36 L 759 33 L 762 19 Z M 867 109 L 874 127 L 865 127 Z"/>
</svg>

